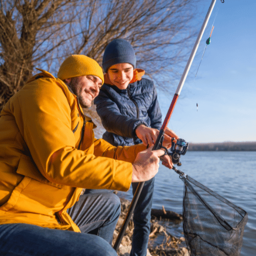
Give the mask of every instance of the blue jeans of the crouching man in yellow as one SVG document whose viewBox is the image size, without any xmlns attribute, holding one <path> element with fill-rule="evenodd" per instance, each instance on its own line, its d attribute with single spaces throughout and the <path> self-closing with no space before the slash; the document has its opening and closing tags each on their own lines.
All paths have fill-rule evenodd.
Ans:
<svg viewBox="0 0 256 256">
<path fill-rule="evenodd" d="M 0 255 L 117 256 L 110 244 L 120 215 L 115 194 L 81 195 L 69 214 L 81 233 L 25 223 L 0 225 Z"/>
</svg>

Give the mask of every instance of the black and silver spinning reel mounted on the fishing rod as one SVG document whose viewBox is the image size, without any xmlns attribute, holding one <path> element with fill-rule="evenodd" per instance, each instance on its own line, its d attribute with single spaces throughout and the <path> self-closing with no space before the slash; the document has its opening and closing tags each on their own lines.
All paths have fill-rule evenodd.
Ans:
<svg viewBox="0 0 256 256">
<path fill-rule="evenodd" d="M 167 150 L 167 155 L 172 159 L 174 164 L 181 166 L 180 156 L 186 154 L 188 142 L 183 139 L 177 139 L 175 143 L 174 140 L 175 138 L 172 138 L 172 146 Z"/>
</svg>

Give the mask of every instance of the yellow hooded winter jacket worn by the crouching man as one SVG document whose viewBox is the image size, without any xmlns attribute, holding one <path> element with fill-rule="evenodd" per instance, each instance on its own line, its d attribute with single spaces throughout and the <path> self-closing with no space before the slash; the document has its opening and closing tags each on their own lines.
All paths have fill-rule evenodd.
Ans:
<svg viewBox="0 0 256 256">
<path fill-rule="evenodd" d="M 43 70 L 7 102 L 0 114 L 0 224 L 79 231 L 66 210 L 82 188 L 129 189 L 131 163 L 145 147 L 114 147 L 95 139 L 93 127 L 66 84 Z"/>
</svg>

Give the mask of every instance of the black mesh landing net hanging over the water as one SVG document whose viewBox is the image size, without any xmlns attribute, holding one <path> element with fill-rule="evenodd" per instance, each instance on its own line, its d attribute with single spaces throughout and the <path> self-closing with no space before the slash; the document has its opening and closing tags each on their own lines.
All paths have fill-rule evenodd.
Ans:
<svg viewBox="0 0 256 256">
<path fill-rule="evenodd" d="M 184 182 L 183 230 L 191 256 L 239 256 L 247 212 L 196 180 Z"/>
</svg>

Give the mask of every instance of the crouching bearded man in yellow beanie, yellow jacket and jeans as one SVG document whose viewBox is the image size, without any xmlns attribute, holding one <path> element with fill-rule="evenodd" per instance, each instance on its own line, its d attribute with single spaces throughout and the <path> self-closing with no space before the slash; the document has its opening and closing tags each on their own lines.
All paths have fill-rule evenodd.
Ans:
<svg viewBox="0 0 256 256">
<path fill-rule="evenodd" d="M 40 70 L 6 103 L 0 114 L 1 255 L 116 255 L 110 244 L 118 197 L 80 195 L 82 188 L 126 191 L 156 175 L 164 151 L 94 138 L 95 125 L 82 108 L 91 106 L 103 80 L 95 60 L 72 55 L 58 78 Z"/>
</svg>

